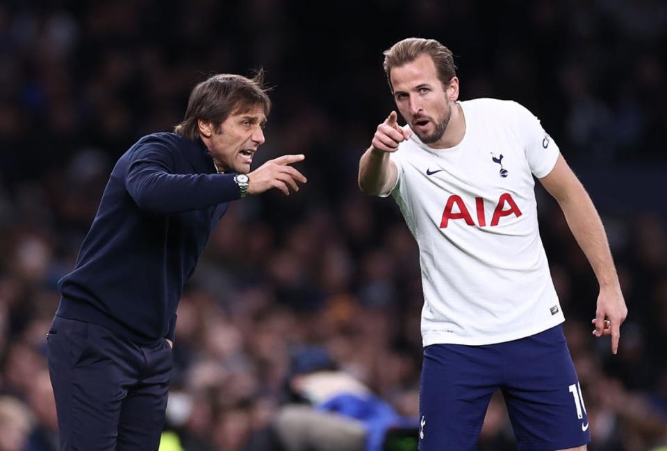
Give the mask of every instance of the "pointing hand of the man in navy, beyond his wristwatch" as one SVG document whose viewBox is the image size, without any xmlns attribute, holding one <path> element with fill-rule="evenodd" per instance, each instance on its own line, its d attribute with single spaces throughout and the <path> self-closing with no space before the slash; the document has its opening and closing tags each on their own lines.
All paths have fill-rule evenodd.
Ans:
<svg viewBox="0 0 667 451">
<path fill-rule="evenodd" d="M 272 188 L 280 189 L 286 196 L 290 195 L 290 189 L 299 191 L 297 182 L 305 183 L 307 180 L 289 165 L 303 161 L 304 158 L 304 155 L 283 155 L 265 162 L 248 174 L 248 194 L 261 194 Z"/>
</svg>

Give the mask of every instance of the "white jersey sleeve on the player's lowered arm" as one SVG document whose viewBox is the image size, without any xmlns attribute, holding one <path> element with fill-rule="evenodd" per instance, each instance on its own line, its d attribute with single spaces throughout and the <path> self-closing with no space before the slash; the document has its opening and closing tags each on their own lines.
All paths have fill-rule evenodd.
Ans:
<svg viewBox="0 0 667 451">
<path fill-rule="evenodd" d="M 560 150 L 532 112 L 519 103 L 515 102 L 514 105 L 516 130 L 523 144 L 528 166 L 534 176 L 543 178 L 554 169 Z"/>
</svg>

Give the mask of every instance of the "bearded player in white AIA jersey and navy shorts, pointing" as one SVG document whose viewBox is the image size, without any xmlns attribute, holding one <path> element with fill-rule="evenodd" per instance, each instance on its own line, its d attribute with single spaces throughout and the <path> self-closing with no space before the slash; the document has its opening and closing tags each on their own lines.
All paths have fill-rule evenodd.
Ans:
<svg viewBox="0 0 667 451">
<path fill-rule="evenodd" d="M 408 38 L 385 51 L 400 114 L 359 162 L 417 240 L 424 359 L 419 449 L 475 450 L 502 390 L 519 450 L 586 450 L 582 389 L 540 239 L 534 180 L 559 203 L 600 282 L 593 334 L 616 353 L 627 308 L 602 222 L 558 146 L 512 101 L 459 101 L 452 52 Z"/>
</svg>

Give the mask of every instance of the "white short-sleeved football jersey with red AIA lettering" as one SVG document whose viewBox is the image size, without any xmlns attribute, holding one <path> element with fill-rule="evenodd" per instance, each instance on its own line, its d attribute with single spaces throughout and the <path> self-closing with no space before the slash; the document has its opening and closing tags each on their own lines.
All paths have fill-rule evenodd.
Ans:
<svg viewBox="0 0 667 451">
<path fill-rule="evenodd" d="M 422 340 L 482 345 L 527 337 L 565 318 L 538 230 L 534 178 L 559 148 L 513 101 L 460 102 L 461 142 L 413 135 L 390 154 L 390 191 L 419 246 Z"/>
</svg>

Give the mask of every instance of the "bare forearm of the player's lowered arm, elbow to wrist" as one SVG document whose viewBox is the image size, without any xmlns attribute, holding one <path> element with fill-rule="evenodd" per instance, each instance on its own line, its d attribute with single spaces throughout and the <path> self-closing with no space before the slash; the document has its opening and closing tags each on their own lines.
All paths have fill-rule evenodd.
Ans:
<svg viewBox="0 0 667 451">
<path fill-rule="evenodd" d="M 573 191 L 558 201 L 568 226 L 593 267 L 600 288 L 617 288 L 618 275 L 600 215 L 581 184 Z"/>
</svg>

